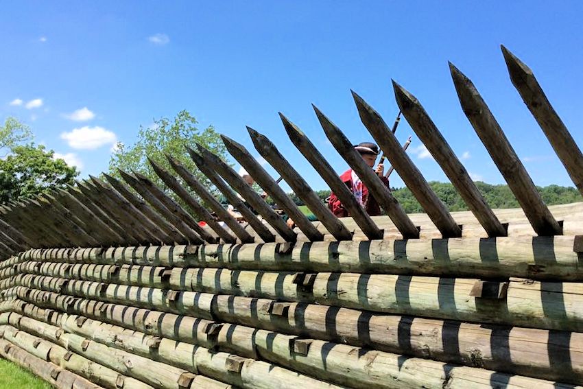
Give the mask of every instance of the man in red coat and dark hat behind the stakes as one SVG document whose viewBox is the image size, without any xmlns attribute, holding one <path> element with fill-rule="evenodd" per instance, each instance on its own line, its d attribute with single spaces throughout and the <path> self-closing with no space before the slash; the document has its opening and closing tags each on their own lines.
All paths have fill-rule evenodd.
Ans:
<svg viewBox="0 0 583 389">
<path fill-rule="evenodd" d="M 377 161 L 377 156 L 379 155 L 379 148 L 377 145 L 370 142 L 362 142 L 358 145 L 355 145 L 355 149 L 360 153 L 367 165 L 369 165 L 371 168 L 374 167 L 374 163 Z M 382 163 L 379 163 L 377 169 L 374 169 L 374 172 L 377 173 L 377 175 L 388 187 L 389 179 L 384 176 L 384 166 Z M 364 207 L 366 213 L 371 216 L 381 215 L 381 207 L 379 207 L 379 203 L 377 203 L 377 200 L 374 200 L 374 197 L 368 193 L 368 188 L 355 174 L 355 172 L 353 172 L 353 169 L 348 169 L 346 172 L 342 173 L 340 175 L 340 179 L 353 192 L 357 202 L 359 202 Z M 348 211 L 344 209 L 344 206 L 334 193 L 331 193 L 330 198 L 328 199 L 328 207 L 337 217 L 349 216 Z"/>
</svg>

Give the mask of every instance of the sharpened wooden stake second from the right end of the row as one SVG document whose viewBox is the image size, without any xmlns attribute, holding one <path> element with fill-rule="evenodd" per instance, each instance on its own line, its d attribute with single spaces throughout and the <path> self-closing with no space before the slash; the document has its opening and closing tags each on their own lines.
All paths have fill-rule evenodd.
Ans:
<svg viewBox="0 0 583 389">
<path fill-rule="evenodd" d="M 523 163 L 474 84 L 453 64 L 449 64 L 449 69 L 464 114 L 521 204 L 534 231 L 538 235 L 561 235 L 561 226 L 543 202 Z"/>
</svg>

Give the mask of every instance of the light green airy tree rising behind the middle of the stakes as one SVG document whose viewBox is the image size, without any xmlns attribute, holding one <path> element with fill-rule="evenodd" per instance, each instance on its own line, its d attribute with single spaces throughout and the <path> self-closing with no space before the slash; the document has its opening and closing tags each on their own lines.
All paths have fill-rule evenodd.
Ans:
<svg viewBox="0 0 583 389">
<path fill-rule="evenodd" d="M 156 163 L 176 176 L 174 169 L 172 169 L 165 157 L 165 154 L 170 154 L 194 174 L 203 185 L 210 189 L 211 183 L 196 168 L 185 146 L 196 150 L 195 143 L 200 143 L 222 158 L 226 156 L 226 150 L 219 133 L 215 131 L 213 126 L 201 131 L 196 128 L 195 125 L 197 123 L 196 119 L 187 110 L 182 110 L 174 119 L 162 117 L 154 120 L 153 126 L 147 128 L 140 126 L 138 140 L 134 145 L 117 144 L 117 152 L 112 155 L 109 162 L 109 173 L 112 176 L 121 178 L 118 168 L 126 172 L 139 172 L 150 178 L 157 187 L 166 189 L 164 182 L 158 178 L 156 172 L 148 163 L 147 157 L 150 156 Z M 167 191 L 169 193 L 169 189 Z M 174 193 L 169 194 L 176 199 Z"/>
</svg>

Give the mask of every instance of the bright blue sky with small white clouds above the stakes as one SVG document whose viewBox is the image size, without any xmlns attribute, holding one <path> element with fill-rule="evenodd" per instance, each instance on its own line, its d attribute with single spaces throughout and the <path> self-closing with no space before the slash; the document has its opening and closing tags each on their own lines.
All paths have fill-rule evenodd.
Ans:
<svg viewBox="0 0 583 389">
<path fill-rule="evenodd" d="M 473 80 L 534 182 L 572 186 L 499 45 L 533 69 L 583 146 L 582 11 L 577 1 L 3 2 L 0 120 L 29 124 L 37 142 L 87 176 L 107 169 L 115 141 L 131 144 L 139 125 L 187 109 L 201 127 L 213 124 L 250 149 L 245 126 L 263 132 L 324 189 L 277 112 L 342 172 L 310 104 L 355 143 L 370 140 L 350 89 L 392 124 L 393 78 L 418 97 L 473 177 L 503 183 L 462 113 L 450 60 Z M 414 134 L 403 120 L 397 135 Z M 409 154 L 427 180 L 447 180 L 415 136 Z M 403 185 L 396 174 L 392 185 Z"/>
</svg>

